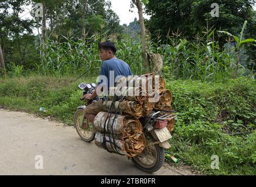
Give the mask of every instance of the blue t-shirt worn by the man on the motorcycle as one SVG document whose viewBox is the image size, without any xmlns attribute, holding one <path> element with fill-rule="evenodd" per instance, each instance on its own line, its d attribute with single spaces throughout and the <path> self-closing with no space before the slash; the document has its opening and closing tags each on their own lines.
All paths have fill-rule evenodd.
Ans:
<svg viewBox="0 0 256 187">
<path fill-rule="evenodd" d="M 98 84 L 105 85 L 107 83 L 108 88 L 110 88 L 111 86 L 115 86 L 117 81 L 116 78 L 118 78 L 120 75 L 124 77 L 133 75 L 129 65 L 117 58 L 105 60 L 101 65 L 100 80 Z"/>
</svg>

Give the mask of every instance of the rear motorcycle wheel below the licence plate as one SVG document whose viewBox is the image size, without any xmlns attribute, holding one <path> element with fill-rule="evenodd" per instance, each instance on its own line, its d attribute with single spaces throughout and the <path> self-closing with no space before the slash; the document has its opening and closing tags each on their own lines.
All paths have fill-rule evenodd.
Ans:
<svg viewBox="0 0 256 187">
<path fill-rule="evenodd" d="M 158 171 L 165 161 L 165 150 L 158 144 L 150 144 L 144 148 L 141 154 L 132 158 L 134 165 L 149 174 Z"/>
</svg>

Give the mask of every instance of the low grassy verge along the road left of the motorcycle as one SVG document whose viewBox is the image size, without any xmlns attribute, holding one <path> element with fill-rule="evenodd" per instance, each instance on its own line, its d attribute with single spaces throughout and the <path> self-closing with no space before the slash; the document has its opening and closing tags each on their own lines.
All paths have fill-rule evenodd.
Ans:
<svg viewBox="0 0 256 187">
<path fill-rule="evenodd" d="M 36 75 L 0 79 L 0 105 L 39 116 L 51 116 L 60 122 L 73 125 L 76 108 L 83 105 L 78 84 L 84 79 L 74 81 L 75 79 Z M 95 78 L 91 77 L 86 80 L 95 82 Z M 41 107 L 46 112 L 40 112 Z"/>
</svg>

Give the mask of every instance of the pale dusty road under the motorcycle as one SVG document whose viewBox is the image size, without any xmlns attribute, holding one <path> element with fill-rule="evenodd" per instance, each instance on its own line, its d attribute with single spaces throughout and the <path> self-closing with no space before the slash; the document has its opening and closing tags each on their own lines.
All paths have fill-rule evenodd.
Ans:
<svg viewBox="0 0 256 187">
<path fill-rule="evenodd" d="M 81 140 L 74 127 L 0 109 L 0 175 L 149 175 Z M 193 175 L 165 163 L 153 175 Z"/>
</svg>

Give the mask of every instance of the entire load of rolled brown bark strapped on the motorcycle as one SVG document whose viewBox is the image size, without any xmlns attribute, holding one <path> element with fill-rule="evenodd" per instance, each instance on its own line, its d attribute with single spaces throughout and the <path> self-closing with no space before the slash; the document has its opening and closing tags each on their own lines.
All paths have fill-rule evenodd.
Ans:
<svg viewBox="0 0 256 187">
<path fill-rule="evenodd" d="M 105 111 L 94 120 L 95 144 L 109 151 L 135 157 L 146 146 L 140 117 L 149 116 L 153 109 L 172 110 L 172 93 L 165 88 L 165 81 L 154 74 L 122 77 L 108 92 L 104 101 Z M 108 116 L 108 117 L 107 117 Z M 106 122 L 106 119 L 107 123 Z M 168 121 L 173 131 L 175 120 Z M 104 128 L 105 127 L 105 128 Z"/>
</svg>

